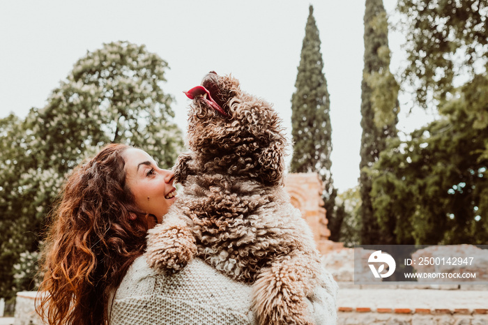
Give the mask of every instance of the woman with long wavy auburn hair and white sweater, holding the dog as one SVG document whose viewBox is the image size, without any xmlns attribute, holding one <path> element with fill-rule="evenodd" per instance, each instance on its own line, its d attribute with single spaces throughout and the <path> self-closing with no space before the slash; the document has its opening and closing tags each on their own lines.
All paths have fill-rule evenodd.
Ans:
<svg viewBox="0 0 488 325">
<path fill-rule="evenodd" d="M 146 152 L 109 144 L 63 190 L 43 257 L 38 312 L 49 324 L 252 324 L 250 286 L 199 259 L 178 274 L 149 268 L 146 232 L 175 200 L 174 174 Z M 132 265 L 132 266 L 131 266 Z M 327 275 L 328 276 L 328 275 Z M 317 292 L 318 324 L 334 324 L 337 285 Z"/>
</svg>

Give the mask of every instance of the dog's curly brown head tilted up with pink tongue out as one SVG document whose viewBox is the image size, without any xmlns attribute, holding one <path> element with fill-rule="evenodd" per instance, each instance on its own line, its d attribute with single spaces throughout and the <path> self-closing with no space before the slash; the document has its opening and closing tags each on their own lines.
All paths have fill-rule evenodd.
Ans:
<svg viewBox="0 0 488 325">
<path fill-rule="evenodd" d="M 185 93 L 193 99 L 188 145 L 207 172 L 282 184 L 286 139 L 270 104 L 241 91 L 234 77 L 214 72 Z"/>
</svg>

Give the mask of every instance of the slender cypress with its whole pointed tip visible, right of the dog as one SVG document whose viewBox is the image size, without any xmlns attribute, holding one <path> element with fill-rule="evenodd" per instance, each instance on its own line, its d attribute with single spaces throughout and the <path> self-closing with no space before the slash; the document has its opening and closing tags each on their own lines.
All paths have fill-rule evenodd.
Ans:
<svg viewBox="0 0 488 325">
<path fill-rule="evenodd" d="M 323 75 L 319 30 L 314 19 L 314 8 L 309 7 L 305 38 L 303 38 L 300 65 L 296 76 L 296 91 L 291 97 L 293 156 L 291 172 L 318 172 L 323 181 L 323 198 L 330 224 L 335 221 L 335 197 L 330 167 L 332 128 L 327 81 Z"/>
</svg>

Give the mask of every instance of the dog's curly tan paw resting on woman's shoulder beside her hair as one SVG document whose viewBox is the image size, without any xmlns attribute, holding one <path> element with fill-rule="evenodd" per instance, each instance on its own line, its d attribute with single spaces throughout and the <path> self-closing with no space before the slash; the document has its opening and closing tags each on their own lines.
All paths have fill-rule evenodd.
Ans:
<svg viewBox="0 0 488 325">
<path fill-rule="evenodd" d="M 153 269 L 176 273 L 196 254 L 195 237 L 183 220 L 163 223 L 148 232 L 146 259 Z"/>
</svg>

